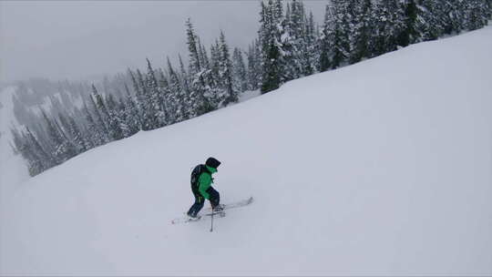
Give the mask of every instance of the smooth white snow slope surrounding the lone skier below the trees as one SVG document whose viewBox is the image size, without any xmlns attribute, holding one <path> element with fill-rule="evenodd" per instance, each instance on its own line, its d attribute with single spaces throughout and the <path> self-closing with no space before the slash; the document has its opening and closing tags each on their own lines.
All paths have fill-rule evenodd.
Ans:
<svg viewBox="0 0 492 277">
<path fill-rule="evenodd" d="M 3 146 L 0 273 L 491 275 L 491 65 L 488 26 L 294 80 L 32 179 Z M 222 161 L 223 202 L 255 201 L 213 232 L 171 225 L 209 156 Z"/>
</svg>

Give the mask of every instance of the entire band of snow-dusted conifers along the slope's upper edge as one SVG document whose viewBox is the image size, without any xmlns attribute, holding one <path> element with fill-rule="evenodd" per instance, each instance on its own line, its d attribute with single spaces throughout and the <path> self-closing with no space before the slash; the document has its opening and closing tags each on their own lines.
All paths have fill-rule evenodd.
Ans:
<svg viewBox="0 0 492 277">
<path fill-rule="evenodd" d="M 261 2 L 258 36 L 247 51 L 220 32 L 207 47 L 186 22 L 188 67 L 128 69 L 110 85 L 80 89 L 80 105 L 50 97 L 33 120 L 12 127 L 13 146 L 31 176 L 88 149 L 226 107 L 241 92 L 267 93 L 283 83 L 380 56 L 398 47 L 487 25 L 490 0 L 332 0 L 323 24 L 302 1 Z M 105 83 L 106 84 L 106 83 Z M 21 113 L 22 114 L 22 113 Z M 17 115 L 16 115 L 17 116 Z"/>
</svg>

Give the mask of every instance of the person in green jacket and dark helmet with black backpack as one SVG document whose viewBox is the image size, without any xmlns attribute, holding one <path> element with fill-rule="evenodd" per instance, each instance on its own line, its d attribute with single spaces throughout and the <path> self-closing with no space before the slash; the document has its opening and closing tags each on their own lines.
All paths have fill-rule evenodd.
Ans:
<svg viewBox="0 0 492 277">
<path fill-rule="evenodd" d="M 205 200 L 210 200 L 213 212 L 223 210 L 220 205 L 219 191 L 211 187 L 213 183 L 211 175 L 217 172 L 219 166 L 220 161 L 210 157 L 205 161 L 204 165 L 200 164 L 191 171 L 191 191 L 195 197 L 195 202 L 187 212 L 190 218 L 195 219 L 198 217 L 198 213 L 203 208 Z"/>
</svg>

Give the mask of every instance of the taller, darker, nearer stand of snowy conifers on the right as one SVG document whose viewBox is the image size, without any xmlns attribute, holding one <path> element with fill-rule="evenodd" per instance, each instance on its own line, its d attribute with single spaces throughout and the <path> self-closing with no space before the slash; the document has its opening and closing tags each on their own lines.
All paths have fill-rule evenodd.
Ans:
<svg viewBox="0 0 492 277">
<path fill-rule="evenodd" d="M 261 3 L 261 92 L 289 80 L 487 25 L 490 0 L 331 0 L 323 26 L 301 1 Z"/>
</svg>

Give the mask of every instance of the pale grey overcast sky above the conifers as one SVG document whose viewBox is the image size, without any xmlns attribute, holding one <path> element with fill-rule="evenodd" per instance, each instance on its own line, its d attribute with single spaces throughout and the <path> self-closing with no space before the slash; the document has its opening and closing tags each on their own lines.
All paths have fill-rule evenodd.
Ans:
<svg viewBox="0 0 492 277">
<path fill-rule="evenodd" d="M 304 1 L 321 22 L 325 1 Z M 0 81 L 85 79 L 187 56 L 191 17 L 209 48 L 225 32 L 244 49 L 257 35 L 260 1 L 0 1 Z"/>
</svg>

